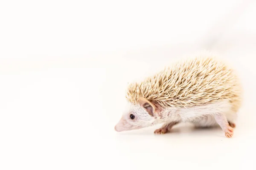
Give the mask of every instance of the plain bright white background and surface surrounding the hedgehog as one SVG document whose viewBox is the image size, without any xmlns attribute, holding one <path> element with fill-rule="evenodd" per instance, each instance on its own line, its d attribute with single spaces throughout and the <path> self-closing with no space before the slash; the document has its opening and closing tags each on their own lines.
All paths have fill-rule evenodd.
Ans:
<svg viewBox="0 0 256 170">
<path fill-rule="evenodd" d="M 232 139 L 114 131 L 128 82 L 202 49 L 243 81 Z M 0 170 L 255 170 L 255 56 L 252 0 L 1 0 Z"/>
</svg>

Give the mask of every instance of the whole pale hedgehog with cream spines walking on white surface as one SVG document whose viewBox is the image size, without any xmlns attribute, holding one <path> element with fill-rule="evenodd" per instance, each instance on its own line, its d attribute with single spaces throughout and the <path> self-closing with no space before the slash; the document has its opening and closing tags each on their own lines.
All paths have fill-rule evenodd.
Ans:
<svg viewBox="0 0 256 170">
<path fill-rule="evenodd" d="M 164 134 L 173 125 L 191 122 L 196 127 L 219 125 L 231 138 L 241 94 L 238 76 L 224 62 L 215 57 L 189 58 L 130 84 L 126 95 L 130 107 L 115 130 L 163 123 L 154 133 Z"/>
</svg>

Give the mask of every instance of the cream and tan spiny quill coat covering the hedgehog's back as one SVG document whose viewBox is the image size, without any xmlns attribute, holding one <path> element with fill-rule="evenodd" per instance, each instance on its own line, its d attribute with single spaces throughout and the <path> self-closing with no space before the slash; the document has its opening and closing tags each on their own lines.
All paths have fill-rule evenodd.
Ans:
<svg viewBox="0 0 256 170">
<path fill-rule="evenodd" d="M 143 82 L 131 83 L 126 98 L 136 104 L 139 97 L 160 110 L 195 113 L 194 121 L 203 111 L 218 112 L 218 106 L 226 106 L 221 112 L 233 119 L 241 105 L 241 84 L 224 62 L 215 57 L 195 57 L 177 62 Z"/>
</svg>

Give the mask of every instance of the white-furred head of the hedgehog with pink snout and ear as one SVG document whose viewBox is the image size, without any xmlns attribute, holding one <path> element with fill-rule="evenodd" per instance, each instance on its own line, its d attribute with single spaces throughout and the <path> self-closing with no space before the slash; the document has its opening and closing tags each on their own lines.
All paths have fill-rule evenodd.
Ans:
<svg viewBox="0 0 256 170">
<path fill-rule="evenodd" d="M 140 97 L 136 103 L 131 103 L 115 126 L 118 132 L 140 129 L 154 125 L 157 121 L 156 108 L 153 103 Z"/>
</svg>

